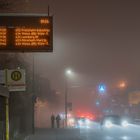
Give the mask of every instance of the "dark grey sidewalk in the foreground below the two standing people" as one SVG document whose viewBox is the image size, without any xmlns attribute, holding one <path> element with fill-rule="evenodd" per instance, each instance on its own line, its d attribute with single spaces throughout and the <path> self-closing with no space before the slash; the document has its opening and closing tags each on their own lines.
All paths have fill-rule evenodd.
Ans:
<svg viewBox="0 0 140 140">
<path fill-rule="evenodd" d="M 73 128 L 36 129 L 36 133 L 25 140 L 80 140 L 80 131 Z"/>
</svg>

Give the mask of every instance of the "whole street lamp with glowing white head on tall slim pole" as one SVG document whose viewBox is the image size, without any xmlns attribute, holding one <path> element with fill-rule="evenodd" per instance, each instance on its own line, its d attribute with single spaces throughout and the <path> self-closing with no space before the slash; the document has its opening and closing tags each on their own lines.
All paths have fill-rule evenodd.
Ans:
<svg viewBox="0 0 140 140">
<path fill-rule="evenodd" d="M 68 117 L 68 108 L 67 108 L 67 104 L 68 104 L 68 76 L 72 75 L 72 71 L 70 69 L 67 69 L 65 71 L 65 127 L 67 127 L 67 117 Z"/>
</svg>

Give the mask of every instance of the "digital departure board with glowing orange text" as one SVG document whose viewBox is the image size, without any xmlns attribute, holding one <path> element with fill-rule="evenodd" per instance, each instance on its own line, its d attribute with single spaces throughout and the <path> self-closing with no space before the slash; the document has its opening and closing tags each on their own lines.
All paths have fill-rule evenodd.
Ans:
<svg viewBox="0 0 140 140">
<path fill-rule="evenodd" d="M 52 52 L 52 17 L 0 15 L 0 51 Z"/>
</svg>

